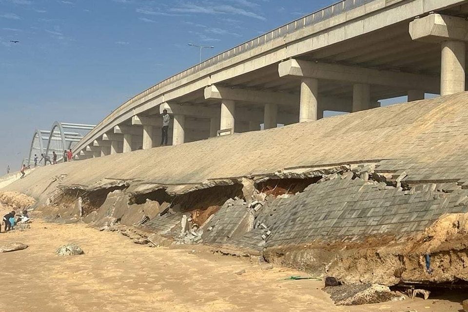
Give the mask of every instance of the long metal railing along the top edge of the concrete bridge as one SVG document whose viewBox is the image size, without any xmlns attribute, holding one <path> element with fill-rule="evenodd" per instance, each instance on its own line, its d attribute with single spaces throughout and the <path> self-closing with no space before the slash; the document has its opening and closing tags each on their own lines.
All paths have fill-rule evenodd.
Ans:
<svg viewBox="0 0 468 312">
<path fill-rule="evenodd" d="M 286 25 L 280 26 L 276 29 L 273 29 L 272 31 L 263 34 L 261 36 L 258 36 L 252 40 L 246 41 L 242 44 L 237 45 L 236 47 L 224 51 L 210 59 L 206 59 L 205 61 L 196 64 L 195 66 L 186 69 L 170 78 L 164 79 L 163 81 L 157 83 L 156 85 L 148 88 L 147 90 L 141 92 L 134 98 L 129 99 L 128 101 L 124 102 L 122 105 L 120 105 L 114 112 L 118 112 L 120 110 L 124 110 L 126 107 L 129 105 L 133 104 L 135 101 L 146 97 L 147 95 L 155 92 L 161 87 L 164 87 L 168 84 L 171 84 L 175 81 L 178 81 L 180 79 L 186 78 L 192 74 L 195 74 L 197 72 L 200 72 L 208 67 L 214 66 L 224 60 L 234 58 L 235 56 L 238 56 L 240 54 L 243 54 L 247 51 L 250 51 L 256 47 L 262 46 L 270 41 L 273 41 L 274 39 L 280 38 L 282 36 L 285 36 L 287 34 L 292 34 L 300 29 L 303 29 L 305 27 L 311 26 L 313 24 L 316 24 L 318 22 L 324 21 L 331 19 L 334 16 L 340 15 L 342 13 L 351 11 L 355 8 L 358 8 L 362 5 L 368 4 L 370 2 L 373 2 L 376 0 L 342 0 L 337 3 L 331 4 L 330 6 L 318 10 L 316 12 L 313 12 L 309 15 L 306 15 L 300 19 L 294 20 Z M 114 113 L 113 112 L 113 113 Z M 112 115 L 112 114 L 111 114 Z M 110 116 L 108 116 L 110 117 Z M 103 120 L 103 122 L 106 121 L 107 118 Z"/>
</svg>

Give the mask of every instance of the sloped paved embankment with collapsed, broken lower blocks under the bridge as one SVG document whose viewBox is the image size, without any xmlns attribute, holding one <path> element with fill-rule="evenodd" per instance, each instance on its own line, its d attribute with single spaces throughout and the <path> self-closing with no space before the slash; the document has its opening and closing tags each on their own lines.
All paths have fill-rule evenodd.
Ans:
<svg viewBox="0 0 468 312">
<path fill-rule="evenodd" d="M 348 283 L 463 286 L 467 124 L 463 93 L 48 166 L 6 189 L 50 220 L 139 243 L 203 243 Z"/>
</svg>

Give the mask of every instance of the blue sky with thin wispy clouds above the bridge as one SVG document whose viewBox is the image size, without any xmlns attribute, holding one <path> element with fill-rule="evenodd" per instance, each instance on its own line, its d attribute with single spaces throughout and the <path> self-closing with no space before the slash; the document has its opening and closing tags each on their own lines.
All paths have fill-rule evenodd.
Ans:
<svg viewBox="0 0 468 312">
<path fill-rule="evenodd" d="M 0 174 L 35 129 L 96 124 L 128 98 L 334 0 L 0 0 Z M 18 40 L 14 43 L 10 40 Z"/>
</svg>

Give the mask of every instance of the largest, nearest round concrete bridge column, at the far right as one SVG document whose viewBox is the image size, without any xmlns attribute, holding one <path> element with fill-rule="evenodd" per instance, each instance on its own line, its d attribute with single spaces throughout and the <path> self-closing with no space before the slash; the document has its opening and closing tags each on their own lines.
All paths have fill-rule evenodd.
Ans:
<svg viewBox="0 0 468 312">
<path fill-rule="evenodd" d="M 465 91 L 466 43 L 447 40 L 442 42 L 440 68 L 440 94 L 442 96 Z"/>
</svg>

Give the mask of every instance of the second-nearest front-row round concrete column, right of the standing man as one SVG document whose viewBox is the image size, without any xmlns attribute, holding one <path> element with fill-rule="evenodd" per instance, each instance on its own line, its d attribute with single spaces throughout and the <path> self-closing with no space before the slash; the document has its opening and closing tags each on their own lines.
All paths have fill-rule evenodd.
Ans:
<svg viewBox="0 0 468 312">
<path fill-rule="evenodd" d="M 299 122 L 317 120 L 318 79 L 302 78 Z"/>
</svg>

